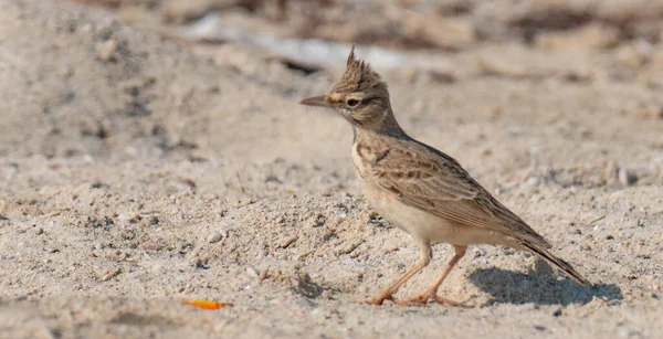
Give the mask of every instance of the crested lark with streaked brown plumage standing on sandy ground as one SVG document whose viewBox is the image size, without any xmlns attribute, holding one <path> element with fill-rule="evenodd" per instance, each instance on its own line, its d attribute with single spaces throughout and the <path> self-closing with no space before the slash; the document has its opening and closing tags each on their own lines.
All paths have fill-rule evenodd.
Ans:
<svg viewBox="0 0 663 339">
<path fill-rule="evenodd" d="M 588 280 L 550 252 L 551 245 L 497 201 L 451 157 L 414 140 L 391 110 L 387 84 L 350 51 L 341 80 L 327 95 L 304 105 L 335 109 L 352 125 L 352 162 L 366 199 L 380 215 L 409 233 L 420 248 L 420 261 L 370 304 L 399 305 L 429 300 L 460 305 L 438 296 L 438 289 L 471 244 L 504 245 L 532 252 L 582 286 Z M 455 255 L 442 276 L 422 295 L 408 301 L 396 290 L 425 267 L 431 245 L 449 243 Z"/>
</svg>

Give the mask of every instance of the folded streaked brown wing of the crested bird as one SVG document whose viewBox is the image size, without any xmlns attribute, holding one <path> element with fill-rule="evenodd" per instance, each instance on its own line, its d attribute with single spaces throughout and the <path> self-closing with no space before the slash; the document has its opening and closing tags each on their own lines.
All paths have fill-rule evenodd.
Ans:
<svg viewBox="0 0 663 339">
<path fill-rule="evenodd" d="M 430 146 L 410 144 L 392 148 L 370 168 L 377 183 L 408 205 L 459 224 L 497 231 L 550 247 L 453 158 Z"/>
</svg>

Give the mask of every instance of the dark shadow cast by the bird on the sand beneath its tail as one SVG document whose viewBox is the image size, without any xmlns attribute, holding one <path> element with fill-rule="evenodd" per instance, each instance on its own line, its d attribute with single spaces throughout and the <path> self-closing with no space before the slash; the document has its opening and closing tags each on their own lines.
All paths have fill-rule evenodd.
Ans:
<svg viewBox="0 0 663 339">
<path fill-rule="evenodd" d="M 480 268 L 470 275 L 470 280 L 481 290 L 490 294 L 495 303 L 540 305 L 588 304 L 593 297 L 607 300 L 621 300 L 621 289 L 614 284 L 594 284 L 582 287 L 573 280 L 555 279 L 549 275 L 530 272 L 527 275 L 496 267 Z"/>
</svg>

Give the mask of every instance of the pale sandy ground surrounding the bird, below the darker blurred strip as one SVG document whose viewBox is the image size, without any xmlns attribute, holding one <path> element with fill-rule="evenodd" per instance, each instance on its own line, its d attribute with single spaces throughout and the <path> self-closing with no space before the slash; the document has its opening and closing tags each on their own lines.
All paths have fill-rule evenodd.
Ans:
<svg viewBox="0 0 663 339">
<path fill-rule="evenodd" d="M 362 200 L 349 126 L 297 104 L 343 62 L 306 75 L 105 9 L 0 1 L 0 336 L 663 337 L 663 47 L 638 13 L 631 35 L 602 19 L 378 70 L 403 127 L 596 287 L 475 246 L 441 290 L 469 308 L 375 307 L 418 251 Z M 434 250 L 399 296 L 440 274 Z"/>
</svg>

